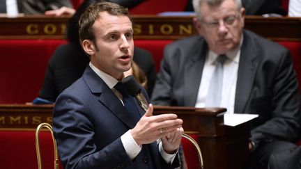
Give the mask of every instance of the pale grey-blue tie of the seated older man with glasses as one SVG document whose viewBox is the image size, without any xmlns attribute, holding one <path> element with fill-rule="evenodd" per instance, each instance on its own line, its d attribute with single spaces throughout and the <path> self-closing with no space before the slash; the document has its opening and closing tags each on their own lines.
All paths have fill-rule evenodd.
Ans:
<svg viewBox="0 0 301 169">
<path fill-rule="evenodd" d="M 211 77 L 208 94 L 206 96 L 206 107 L 221 106 L 224 61 L 226 61 L 226 59 L 227 57 L 225 55 L 219 55 L 217 57 L 217 65 L 215 67 L 215 72 L 213 72 L 213 76 Z"/>
</svg>

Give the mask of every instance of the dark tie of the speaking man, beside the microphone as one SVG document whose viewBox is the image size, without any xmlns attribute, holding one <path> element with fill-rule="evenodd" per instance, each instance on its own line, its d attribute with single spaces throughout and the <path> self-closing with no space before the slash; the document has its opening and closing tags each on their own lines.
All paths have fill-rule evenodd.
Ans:
<svg viewBox="0 0 301 169">
<path fill-rule="evenodd" d="M 128 111 L 129 115 L 132 115 L 136 122 L 141 118 L 138 110 L 138 104 L 136 104 L 136 100 L 131 95 L 128 95 L 128 92 L 125 88 L 125 85 L 121 82 L 118 82 L 114 88 L 118 90 L 123 97 L 123 104 L 125 105 L 125 109 Z"/>
</svg>

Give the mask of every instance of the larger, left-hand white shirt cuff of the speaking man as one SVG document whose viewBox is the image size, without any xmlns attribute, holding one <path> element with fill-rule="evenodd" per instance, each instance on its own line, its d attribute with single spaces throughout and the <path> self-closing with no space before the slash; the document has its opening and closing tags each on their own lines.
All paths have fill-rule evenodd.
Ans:
<svg viewBox="0 0 301 169">
<path fill-rule="evenodd" d="M 139 154 L 139 152 L 141 152 L 142 147 L 137 145 L 136 141 L 132 137 L 132 134 L 130 133 L 130 130 L 121 136 L 121 143 L 123 143 L 125 152 L 128 154 L 131 160 L 133 160 Z"/>
</svg>

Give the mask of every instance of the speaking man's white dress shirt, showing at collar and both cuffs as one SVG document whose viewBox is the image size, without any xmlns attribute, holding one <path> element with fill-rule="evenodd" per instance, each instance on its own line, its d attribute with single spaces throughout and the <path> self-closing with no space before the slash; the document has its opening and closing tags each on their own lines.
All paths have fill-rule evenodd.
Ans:
<svg viewBox="0 0 301 169">
<path fill-rule="evenodd" d="M 109 75 L 109 74 L 107 74 L 105 72 L 102 72 L 101 70 L 98 70 L 98 68 L 95 67 L 91 62 L 89 63 L 89 66 L 91 67 L 91 69 L 96 74 L 98 74 L 98 76 L 103 81 L 105 81 L 105 83 L 107 84 L 107 86 L 109 86 L 109 88 L 111 88 L 111 90 L 118 97 L 118 99 L 121 100 L 121 103 L 123 104 L 121 93 L 118 92 L 118 90 L 116 90 L 114 88 L 114 86 L 118 83 L 117 79 L 115 79 L 114 77 L 111 77 L 111 75 Z M 125 148 L 125 152 L 127 152 L 127 154 L 130 157 L 130 159 L 134 159 L 139 154 L 139 152 L 141 152 L 142 146 L 138 145 L 136 143 L 136 141 L 132 137 L 132 134 L 130 133 L 130 130 L 128 130 L 127 132 L 125 132 L 125 134 L 123 134 L 121 136 L 121 142 L 123 143 L 123 147 Z M 167 152 L 165 152 L 163 150 L 161 141 L 159 141 L 157 143 L 160 144 L 159 145 L 159 152 L 160 152 L 161 156 L 163 157 L 163 159 L 165 161 L 167 161 L 167 163 L 172 163 L 173 160 L 176 157 L 176 154 L 167 154 Z"/>
</svg>

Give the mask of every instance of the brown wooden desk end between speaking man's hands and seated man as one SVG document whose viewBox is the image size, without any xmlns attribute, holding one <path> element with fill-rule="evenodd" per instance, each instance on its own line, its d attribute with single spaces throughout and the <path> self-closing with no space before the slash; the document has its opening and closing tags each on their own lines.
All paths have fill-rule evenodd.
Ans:
<svg viewBox="0 0 301 169">
<path fill-rule="evenodd" d="M 176 113 L 187 134 L 199 136 L 205 169 L 241 169 L 247 159 L 249 123 L 224 126 L 224 108 L 154 106 L 155 114 Z"/>
</svg>

